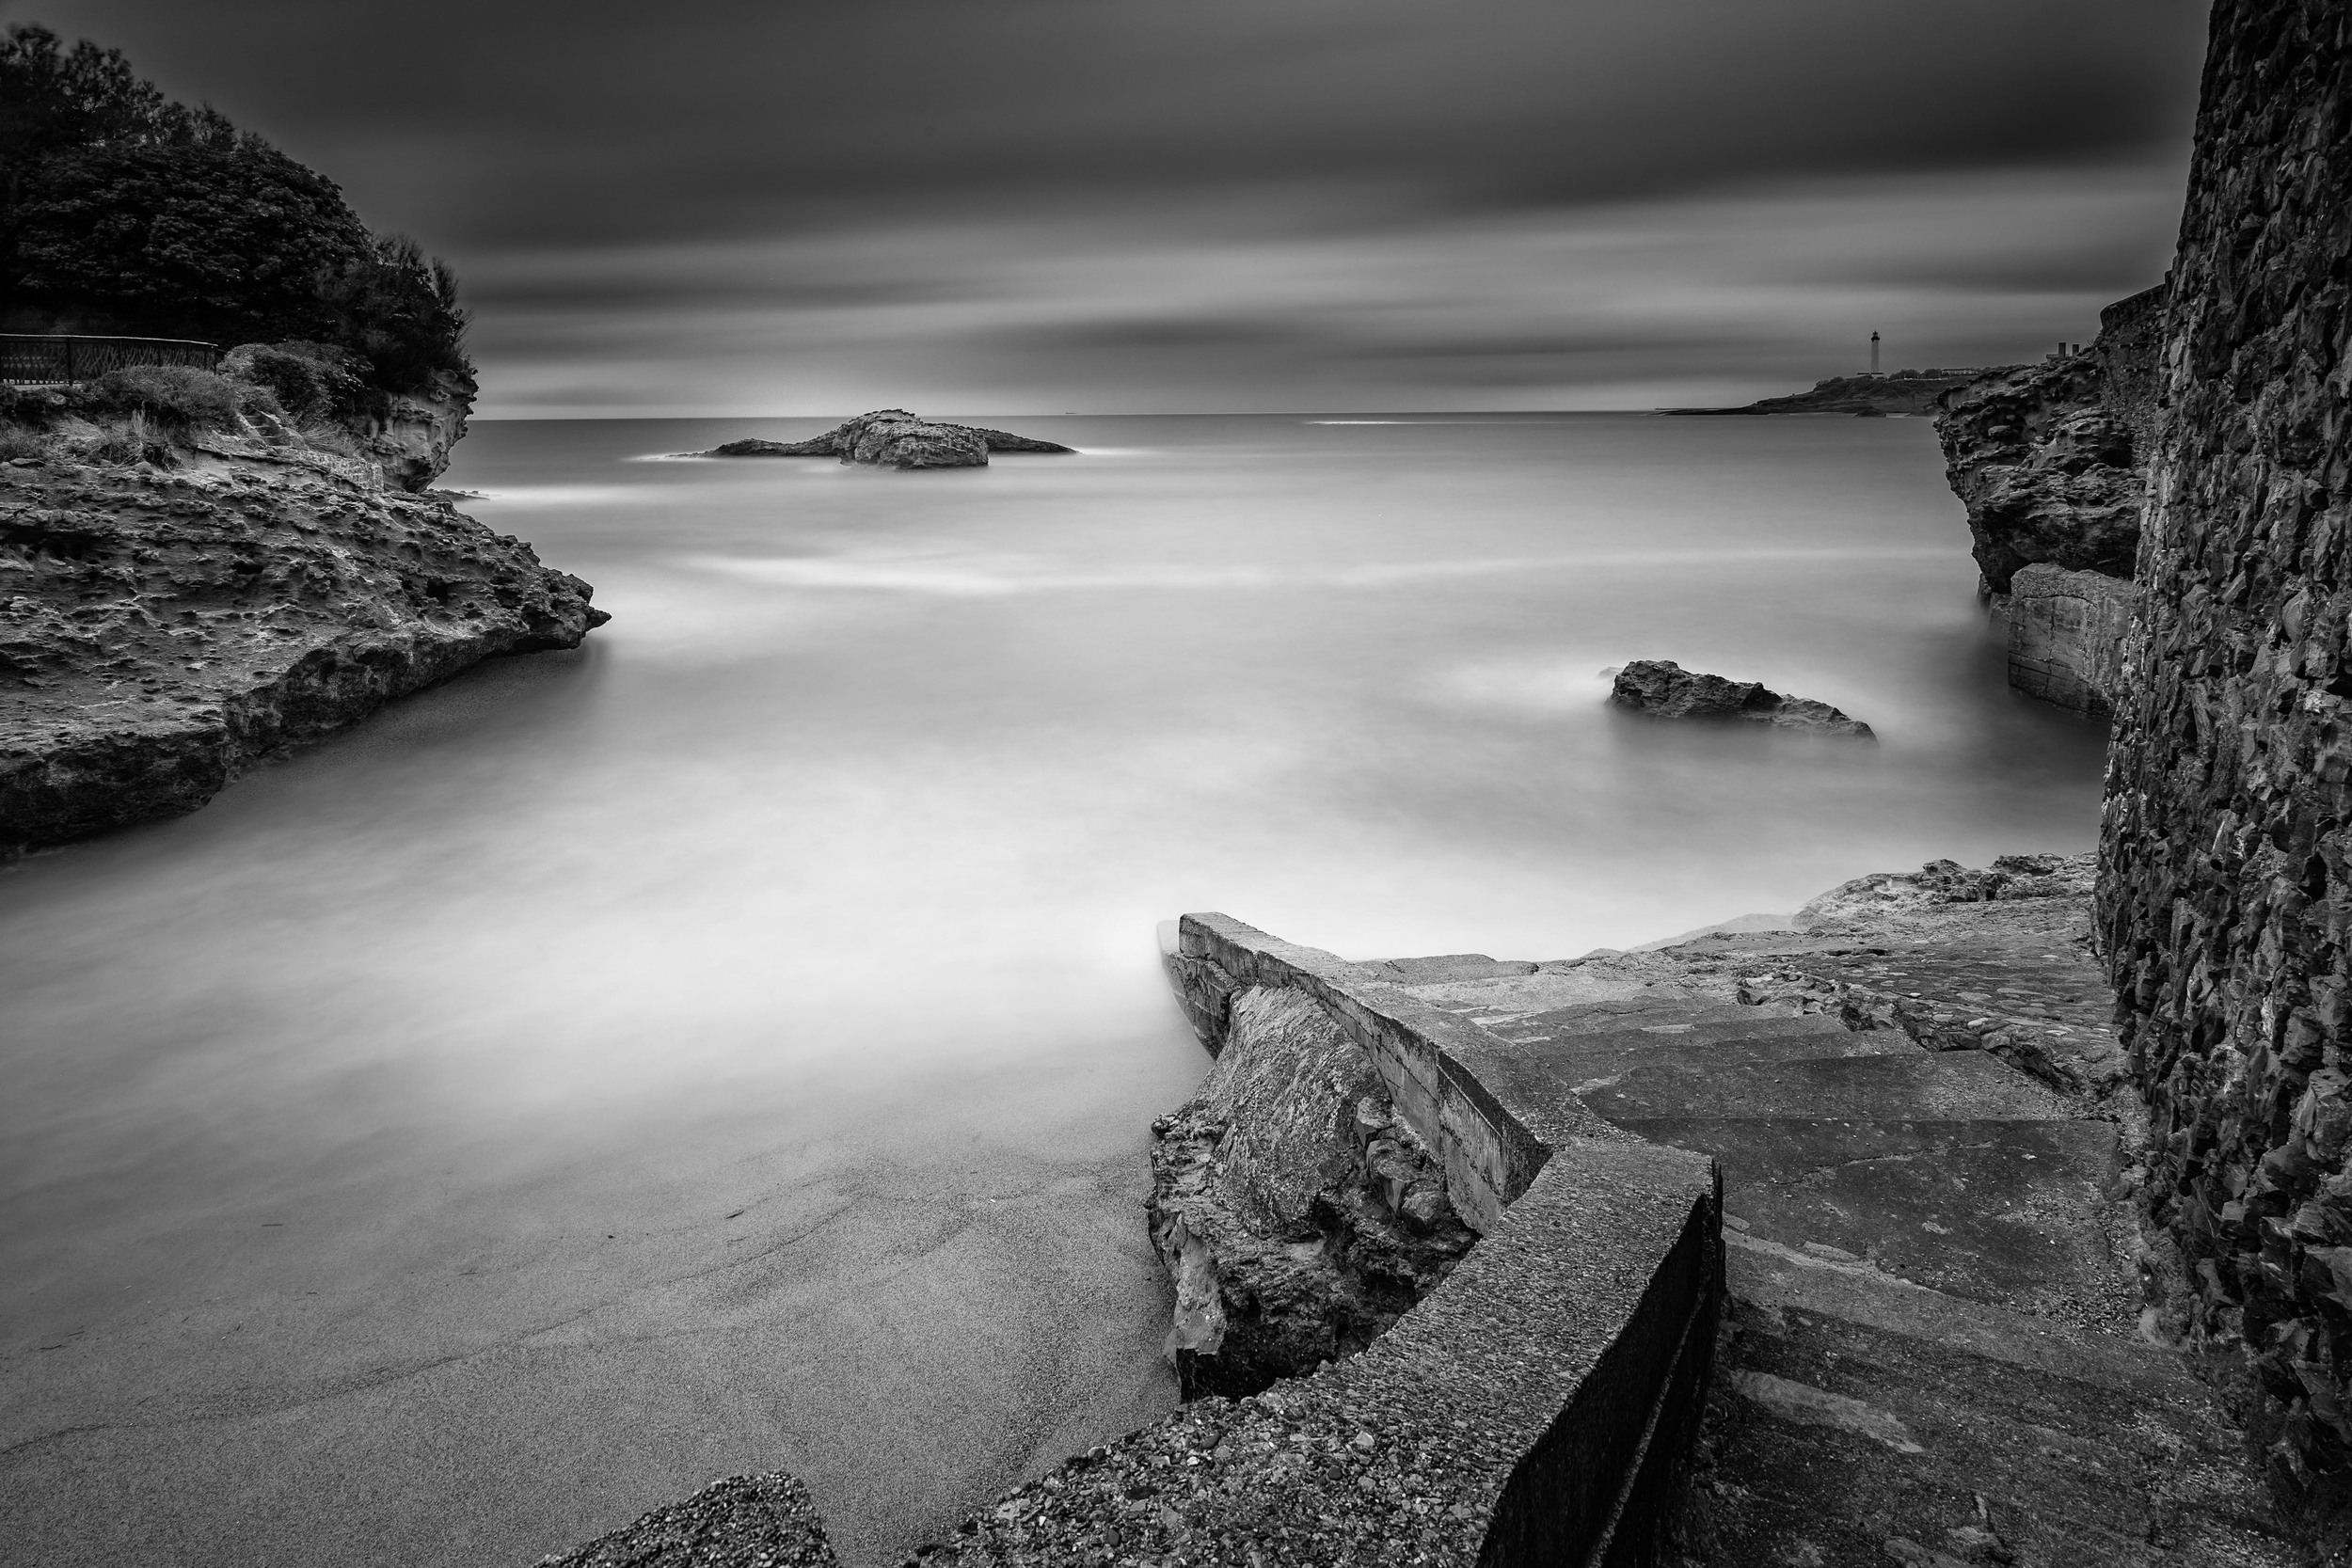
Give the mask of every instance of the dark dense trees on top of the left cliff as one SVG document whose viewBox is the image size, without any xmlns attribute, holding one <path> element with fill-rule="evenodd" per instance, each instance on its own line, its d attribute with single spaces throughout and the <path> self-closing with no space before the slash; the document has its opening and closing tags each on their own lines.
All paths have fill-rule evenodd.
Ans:
<svg viewBox="0 0 2352 1568">
<path fill-rule="evenodd" d="M 120 49 L 0 40 L 0 329 L 341 348 L 383 393 L 470 376 L 456 277 Z"/>
</svg>

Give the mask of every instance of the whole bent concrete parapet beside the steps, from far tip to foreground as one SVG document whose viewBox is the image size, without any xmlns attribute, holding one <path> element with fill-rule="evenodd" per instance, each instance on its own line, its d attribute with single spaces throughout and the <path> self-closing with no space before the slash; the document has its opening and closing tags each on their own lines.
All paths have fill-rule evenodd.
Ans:
<svg viewBox="0 0 2352 1568">
<path fill-rule="evenodd" d="M 1195 1401 L 924 1556 L 1653 1563 L 1722 1314 L 1715 1161 L 1599 1121 L 1505 1041 L 1390 985 L 1395 966 L 1185 914 L 1169 978 L 1211 1053 L 1242 990 L 1319 1001 L 1484 1239 L 1362 1354 Z"/>
</svg>

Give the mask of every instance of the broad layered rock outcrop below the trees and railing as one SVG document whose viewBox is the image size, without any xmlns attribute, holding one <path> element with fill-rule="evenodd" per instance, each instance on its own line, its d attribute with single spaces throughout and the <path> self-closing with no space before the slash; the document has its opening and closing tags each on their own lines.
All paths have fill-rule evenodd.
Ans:
<svg viewBox="0 0 2352 1568">
<path fill-rule="evenodd" d="M 0 465 L 0 856 L 195 811 L 261 757 L 607 621 L 367 463 L 207 444 L 169 470 Z"/>
</svg>

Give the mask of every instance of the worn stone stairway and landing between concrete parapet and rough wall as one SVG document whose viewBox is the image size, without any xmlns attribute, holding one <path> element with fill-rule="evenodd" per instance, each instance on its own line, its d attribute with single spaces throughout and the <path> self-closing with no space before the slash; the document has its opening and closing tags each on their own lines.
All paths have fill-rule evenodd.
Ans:
<svg viewBox="0 0 2352 1568">
<path fill-rule="evenodd" d="M 1931 990 L 1931 954 L 1837 957 Z M 2020 978 L 1971 952 L 1933 978 L 1957 1001 L 1976 1001 L 1959 983 L 2020 1001 L 2074 971 L 2032 961 Z M 2065 1004 L 2098 1004 L 2077 973 L 2065 985 Z M 1454 985 L 1446 1006 L 1498 1041 L 1482 1074 L 1576 1093 L 1722 1166 L 1733 1300 L 1689 1561 L 2300 1561 L 2204 1385 L 2131 1338 L 2131 1265 L 2103 1199 L 2117 1128 L 2079 1100 L 1985 1051 L 1672 987 L 1526 1011 Z"/>
</svg>

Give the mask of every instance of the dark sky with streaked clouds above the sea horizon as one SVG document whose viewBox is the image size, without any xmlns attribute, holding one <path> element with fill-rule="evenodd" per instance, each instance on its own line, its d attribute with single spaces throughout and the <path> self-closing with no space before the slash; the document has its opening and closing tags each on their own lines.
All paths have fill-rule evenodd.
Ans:
<svg viewBox="0 0 2352 1568">
<path fill-rule="evenodd" d="M 482 416 L 1646 409 L 2164 275 L 2201 0 L 0 0 L 459 270 Z"/>
</svg>

